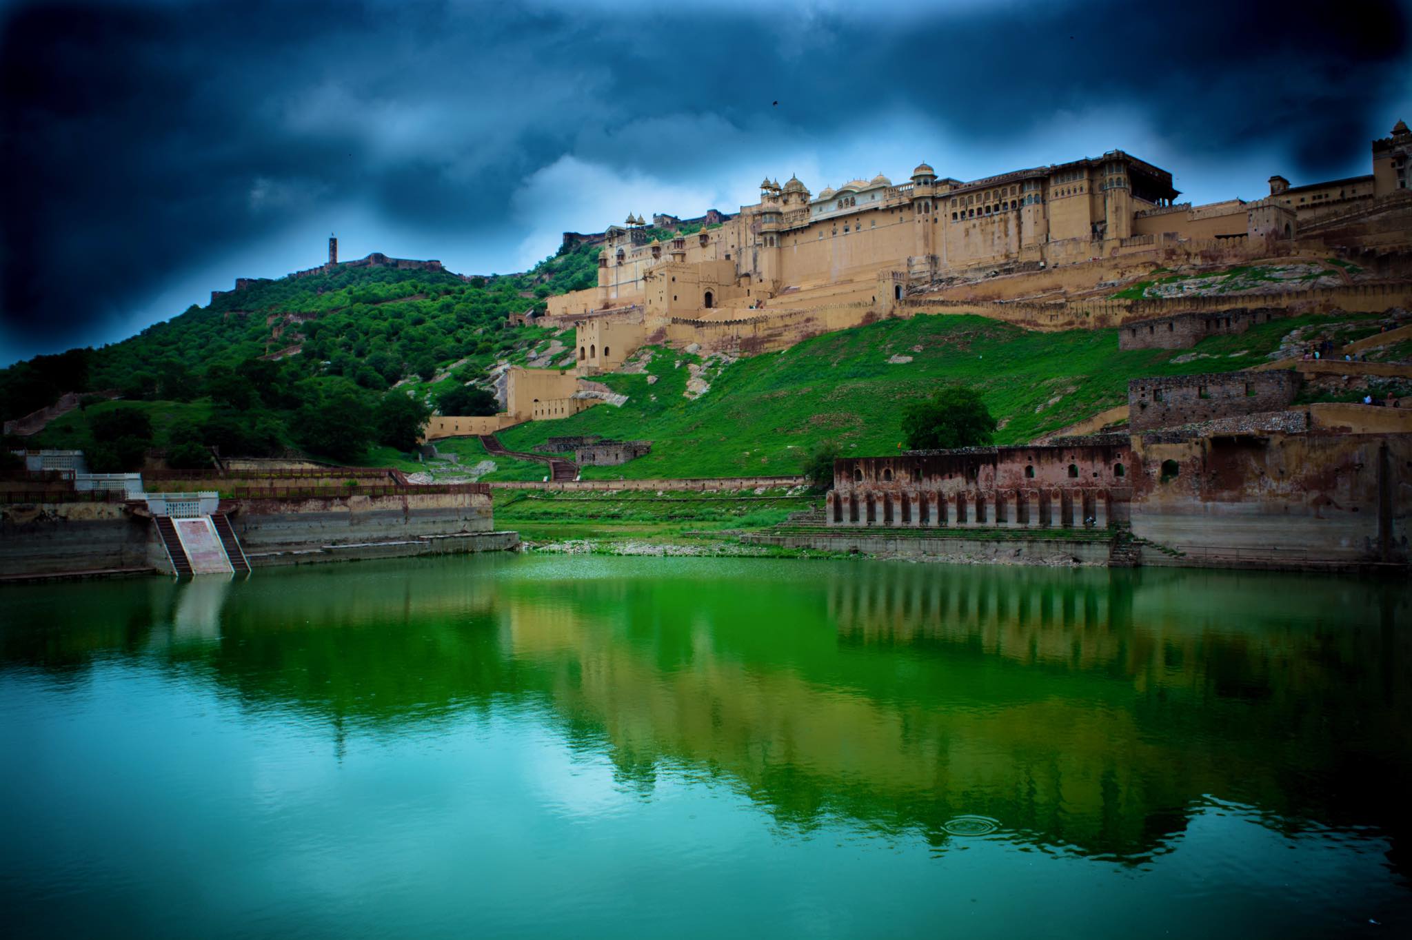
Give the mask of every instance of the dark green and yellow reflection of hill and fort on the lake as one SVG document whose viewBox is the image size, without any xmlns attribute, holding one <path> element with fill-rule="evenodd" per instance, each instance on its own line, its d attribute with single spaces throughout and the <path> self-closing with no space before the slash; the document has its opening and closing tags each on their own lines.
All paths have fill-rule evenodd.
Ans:
<svg viewBox="0 0 1412 940">
<path fill-rule="evenodd" d="M 709 775 L 802 827 L 843 816 L 942 843 L 971 813 L 1132 860 L 1216 796 L 1405 828 L 1396 589 L 885 565 L 714 586 L 449 572 L 465 567 L 234 584 L 215 644 L 154 642 L 192 611 L 209 624 L 210 597 L 113 586 L 80 635 L 305 711 L 333 740 L 534 704 L 634 786 Z M 38 628 L 3 637 L 6 662 L 79 655 L 55 658 Z"/>
</svg>

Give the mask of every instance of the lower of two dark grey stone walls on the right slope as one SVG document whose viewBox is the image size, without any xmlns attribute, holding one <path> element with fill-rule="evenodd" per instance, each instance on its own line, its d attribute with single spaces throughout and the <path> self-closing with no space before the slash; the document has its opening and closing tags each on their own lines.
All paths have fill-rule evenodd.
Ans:
<svg viewBox="0 0 1412 940">
<path fill-rule="evenodd" d="M 1206 373 L 1134 378 L 1128 382 L 1128 426 L 1172 428 L 1288 408 L 1299 391 L 1291 370 Z"/>
</svg>

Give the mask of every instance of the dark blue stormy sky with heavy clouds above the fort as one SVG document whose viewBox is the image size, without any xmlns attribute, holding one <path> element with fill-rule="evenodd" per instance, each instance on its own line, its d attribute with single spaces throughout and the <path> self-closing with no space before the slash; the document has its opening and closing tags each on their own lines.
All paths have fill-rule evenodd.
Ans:
<svg viewBox="0 0 1412 940">
<path fill-rule="evenodd" d="M 1406 0 L 661 7 L 0 0 L 0 364 L 319 264 L 330 231 L 508 272 L 767 174 L 1113 148 L 1257 199 L 1371 172 L 1412 120 Z"/>
</svg>

